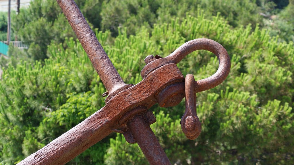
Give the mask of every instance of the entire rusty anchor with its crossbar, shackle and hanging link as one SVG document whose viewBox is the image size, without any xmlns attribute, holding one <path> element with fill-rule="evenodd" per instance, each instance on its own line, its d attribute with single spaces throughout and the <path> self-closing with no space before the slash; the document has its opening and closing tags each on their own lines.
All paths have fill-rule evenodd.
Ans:
<svg viewBox="0 0 294 165">
<path fill-rule="evenodd" d="M 137 142 L 150 164 L 171 164 L 150 128 L 156 118 L 148 109 L 156 103 L 161 107 L 175 106 L 186 97 L 181 127 L 188 139 L 197 138 L 201 123 L 196 113 L 195 94 L 216 87 L 228 76 L 230 57 L 225 48 L 213 40 L 201 38 L 184 43 L 165 58 L 149 55 L 141 71 L 143 80 L 136 85 L 125 84 L 75 1 L 57 2 L 105 85 L 106 105 L 19 165 L 66 164 L 111 132 L 122 133 L 129 143 Z M 218 70 L 202 80 L 195 81 L 190 74 L 184 78 L 176 64 L 200 49 L 211 51 L 218 57 Z"/>
</svg>

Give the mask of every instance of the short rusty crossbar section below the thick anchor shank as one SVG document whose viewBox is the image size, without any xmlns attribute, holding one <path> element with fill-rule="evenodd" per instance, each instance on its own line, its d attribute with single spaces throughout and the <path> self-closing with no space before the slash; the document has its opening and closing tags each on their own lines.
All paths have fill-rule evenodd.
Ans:
<svg viewBox="0 0 294 165">
<path fill-rule="evenodd" d="M 142 116 L 129 120 L 128 128 L 151 165 L 171 165 L 155 134 Z"/>
</svg>

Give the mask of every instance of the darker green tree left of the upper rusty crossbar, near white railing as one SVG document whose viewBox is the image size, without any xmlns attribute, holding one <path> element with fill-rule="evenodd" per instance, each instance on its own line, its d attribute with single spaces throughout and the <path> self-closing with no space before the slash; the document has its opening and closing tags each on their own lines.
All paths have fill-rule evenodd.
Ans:
<svg viewBox="0 0 294 165">
<path fill-rule="evenodd" d="M 51 41 L 63 43 L 65 37 L 75 37 L 64 14 L 60 12 L 56 1 L 34 0 L 28 9 L 22 9 L 20 14 L 12 15 L 13 30 L 21 41 L 29 45 L 27 57 L 44 60 L 47 58 L 47 46 Z M 19 59 L 26 60 L 21 57 Z"/>
</svg>

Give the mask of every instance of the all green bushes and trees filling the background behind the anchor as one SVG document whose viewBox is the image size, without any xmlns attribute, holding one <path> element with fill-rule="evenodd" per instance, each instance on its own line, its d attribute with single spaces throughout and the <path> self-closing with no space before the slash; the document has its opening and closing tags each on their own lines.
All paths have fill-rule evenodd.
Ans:
<svg viewBox="0 0 294 165">
<path fill-rule="evenodd" d="M 172 164 L 293 164 L 293 0 L 76 0 L 126 83 L 142 80 L 147 55 L 210 38 L 231 58 L 228 78 L 197 94 L 202 132 L 181 131 L 183 101 L 153 106 L 151 128 Z M 0 13 L 0 40 L 7 14 Z M 105 88 L 56 1 L 33 0 L 12 14 L 13 36 L 29 45 L 1 57 L 0 165 L 16 164 L 105 105 Z M 216 72 L 213 53 L 179 64 L 184 76 Z M 68 164 L 148 164 L 137 144 L 113 133 Z"/>
</svg>

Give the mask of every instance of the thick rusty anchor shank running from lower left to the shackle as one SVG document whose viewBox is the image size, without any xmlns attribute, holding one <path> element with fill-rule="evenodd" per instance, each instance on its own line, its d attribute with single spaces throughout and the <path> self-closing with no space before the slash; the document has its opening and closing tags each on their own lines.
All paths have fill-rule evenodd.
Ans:
<svg viewBox="0 0 294 165">
<path fill-rule="evenodd" d="M 101 110 L 31 154 L 18 165 L 66 164 L 110 134 L 112 129 L 119 129 L 121 127 L 118 123 L 119 119 L 135 105 L 144 105 L 149 109 L 156 104 L 158 92 L 170 84 L 183 81 L 184 77 L 176 64 L 168 64 L 154 70 L 140 83 L 115 95 Z"/>
</svg>

